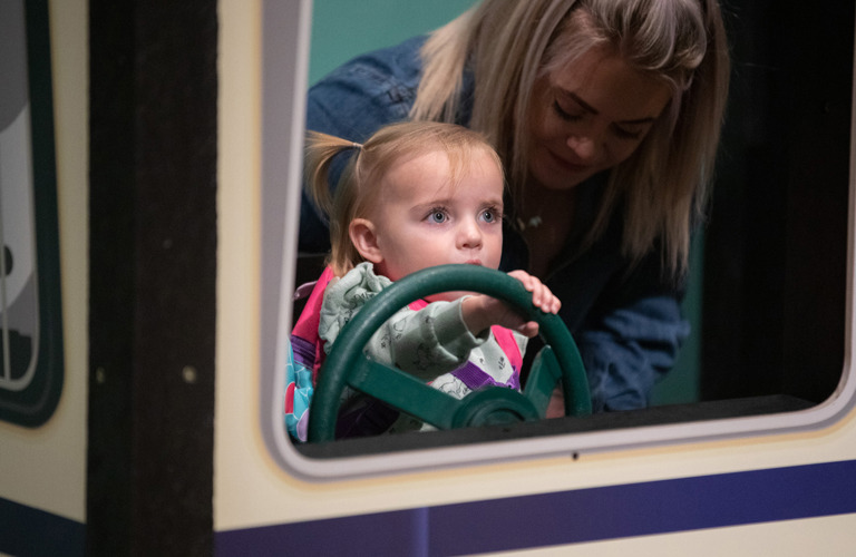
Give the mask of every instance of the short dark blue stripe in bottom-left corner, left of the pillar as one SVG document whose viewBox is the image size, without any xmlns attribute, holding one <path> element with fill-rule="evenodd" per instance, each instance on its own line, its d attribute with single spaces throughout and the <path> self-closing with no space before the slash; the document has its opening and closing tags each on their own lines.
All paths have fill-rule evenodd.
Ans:
<svg viewBox="0 0 856 557">
<path fill-rule="evenodd" d="M 0 553 L 70 557 L 85 549 L 86 525 L 0 498 Z"/>
</svg>

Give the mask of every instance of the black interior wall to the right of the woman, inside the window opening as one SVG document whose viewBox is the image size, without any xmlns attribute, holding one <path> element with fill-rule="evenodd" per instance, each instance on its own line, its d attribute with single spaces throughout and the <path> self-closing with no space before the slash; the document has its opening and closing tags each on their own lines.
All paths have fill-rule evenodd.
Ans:
<svg viewBox="0 0 856 557">
<path fill-rule="evenodd" d="M 820 402 L 844 363 L 854 3 L 723 10 L 733 69 L 706 235 L 700 395 Z"/>
</svg>

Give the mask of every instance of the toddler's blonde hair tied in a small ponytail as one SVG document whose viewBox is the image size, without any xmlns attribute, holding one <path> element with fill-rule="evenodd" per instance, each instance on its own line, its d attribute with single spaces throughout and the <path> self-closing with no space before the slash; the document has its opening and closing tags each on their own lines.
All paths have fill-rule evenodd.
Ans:
<svg viewBox="0 0 856 557">
<path fill-rule="evenodd" d="M 330 221 L 329 264 L 342 276 L 364 261 L 351 242 L 349 225 L 367 217 L 379 195 L 379 184 L 396 164 L 429 153 L 445 153 L 449 160 L 449 180 L 456 185 L 476 153 L 490 155 L 502 172 L 499 156 L 478 131 L 445 123 L 403 121 L 385 126 L 364 144 L 356 144 L 318 131 L 307 133 L 305 187 L 315 205 Z M 352 150 L 335 193 L 330 193 L 329 174 L 340 153 Z"/>
</svg>

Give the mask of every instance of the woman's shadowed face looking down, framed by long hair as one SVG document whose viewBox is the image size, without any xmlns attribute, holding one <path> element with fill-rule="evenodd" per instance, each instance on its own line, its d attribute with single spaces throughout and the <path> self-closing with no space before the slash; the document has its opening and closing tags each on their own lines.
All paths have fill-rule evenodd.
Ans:
<svg viewBox="0 0 856 557">
<path fill-rule="evenodd" d="M 592 49 L 535 81 L 529 175 L 568 189 L 626 159 L 671 97 L 670 88 L 610 51 Z"/>
</svg>

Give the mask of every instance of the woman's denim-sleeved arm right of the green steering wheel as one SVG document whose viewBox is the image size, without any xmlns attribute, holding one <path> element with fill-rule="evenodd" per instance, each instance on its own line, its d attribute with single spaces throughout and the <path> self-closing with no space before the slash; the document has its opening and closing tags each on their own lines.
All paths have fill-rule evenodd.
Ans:
<svg viewBox="0 0 856 557">
<path fill-rule="evenodd" d="M 653 250 L 628 270 L 620 234 L 604 238 L 551 277 L 560 315 L 580 348 L 595 412 L 645 408 L 689 334 L 683 285 L 664 276 Z"/>
</svg>

